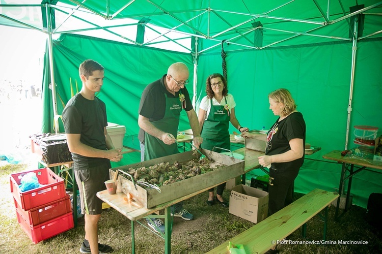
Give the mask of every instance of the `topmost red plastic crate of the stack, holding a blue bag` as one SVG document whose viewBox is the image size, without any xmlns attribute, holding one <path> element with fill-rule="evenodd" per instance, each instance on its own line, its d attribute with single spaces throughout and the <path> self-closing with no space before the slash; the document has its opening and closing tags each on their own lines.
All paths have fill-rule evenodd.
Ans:
<svg viewBox="0 0 382 254">
<path fill-rule="evenodd" d="M 18 187 L 21 177 L 29 172 L 35 172 L 39 183 L 44 186 L 21 192 Z M 10 182 L 12 195 L 24 210 L 30 210 L 66 197 L 64 179 L 54 174 L 49 168 L 11 174 Z"/>
</svg>

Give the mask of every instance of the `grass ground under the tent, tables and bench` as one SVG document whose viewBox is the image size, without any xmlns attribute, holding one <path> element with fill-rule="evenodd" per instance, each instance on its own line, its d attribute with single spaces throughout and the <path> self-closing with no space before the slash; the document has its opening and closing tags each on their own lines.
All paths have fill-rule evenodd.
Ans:
<svg viewBox="0 0 382 254">
<path fill-rule="evenodd" d="M 84 218 L 78 226 L 56 237 L 33 244 L 17 223 L 10 194 L 9 175 L 28 168 L 27 165 L 1 164 L 0 166 L 0 252 L 2 253 L 79 253 L 84 238 Z M 31 167 L 31 166 L 29 166 Z M 229 199 L 228 191 L 223 196 Z M 301 197 L 296 194 L 295 198 Z M 174 219 L 171 242 L 172 253 L 204 253 L 232 238 L 254 224 L 236 217 L 220 205 L 207 206 L 208 194 L 202 193 L 185 201 L 184 207 L 194 213 L 195 220 Z M 334 221 L 335 207 L 329 209 L 326 240 L 337 244 L 285 244 L 279 253 L 382 253 L 382 232 L 368 225 L 365 209 L 351 206 L 340 222 Z M 145 219 L 141 222 L 145 224 Z M 163 253 L 164 241 L 141 225 L 135 224 L 135 250 L 137 253 Z M 114 247 L 115 253 L 131 253 L 131 223 L 114 209 L 105 211 L 99 222 L 100 242 Z M 308 240 L 322 239 L 323 223 L 319 217 L 308 222 Z M 266 234 L 266 232 L 264 232 Z M 303 241 L 301 228 L 289 237 Z M 367 245 L 338 244 L 338 241 L 368 241 Z"/>
</svg>

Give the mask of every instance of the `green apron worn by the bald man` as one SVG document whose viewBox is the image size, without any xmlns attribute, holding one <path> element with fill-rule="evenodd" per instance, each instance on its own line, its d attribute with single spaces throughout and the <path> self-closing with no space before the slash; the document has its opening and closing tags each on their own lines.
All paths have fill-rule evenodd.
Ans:
<svg viewBox="0 0 382 254">
<path fill-rule="evenodd" d="M 181 93 L 181 92 L 180 92 Z M 182 111 L 182 105 L 179 97 L 169 98 L 166 96 L 166 111 L 165 116 L 157 121 L 151 123 L 159 130 L 167 133 L 171 133 L 175 138 L 178 133 L 180 111 Z M 160 139 L 145 132 L 145 161 L 152 160 L 163 156 L 172 155 L 178 153 L 178 146 L 176 143 L 166 145 Z"/>
</svg>

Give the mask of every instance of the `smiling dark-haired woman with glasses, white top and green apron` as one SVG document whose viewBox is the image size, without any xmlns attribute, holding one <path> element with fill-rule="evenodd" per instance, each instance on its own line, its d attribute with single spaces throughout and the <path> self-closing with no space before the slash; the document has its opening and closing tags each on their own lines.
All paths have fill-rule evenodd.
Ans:
<svg viewBox="0 0 382 254">
<path fill-rule="evenodd" d="M 224 149 L 231 148 L 229 122 L 240 132 L 248 132 L 248 128 L 242 127 L 235 115 L 235 100 L 232 94 L 228 93 L 227 81 L 219 73 L 210 75 L 206 80 L 206 93 L 199 105 L 199 125 L 202 130 L 203 149 L 212 150 L 214 146 Z M 216 152 L 224 152 L 222 149 L 215 149 Z M 225 202 L 222 194 L 226 183 L 222 183 L 216 188 L 216 201 L 225 207 L 229 206 Z M 209 206 L 215 203 L 213 188 L 208 190 Z"/>
</svg>

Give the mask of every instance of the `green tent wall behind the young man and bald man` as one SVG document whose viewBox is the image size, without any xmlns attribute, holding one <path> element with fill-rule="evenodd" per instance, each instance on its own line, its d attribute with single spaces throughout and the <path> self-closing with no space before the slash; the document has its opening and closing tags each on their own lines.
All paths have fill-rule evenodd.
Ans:
<svg viewBox="0 0 382 254">
<path fill-rule="evenodd" d="M 190 80 L 193 80 L 193 60 L 189 54 L 142 48 L 91 37 L 62 35 L 59 40 L 53 41 L 53 59 L 58 113 L 62 114 L 71 98 L 70 85 L 74 93 L 76 82 L 78 91 L 81 89 L 78 76 L 80 63 L 86 59 L 93 59 L 105 68 L 104 84 L 97 96 L 106 104 L 107 120 L 125 125 L 127 136 L 138 134 L 138 108 L 146 85 L 161 78 L 167 73 L 168 67 L 178 61 L 188 66 Z M 47 89 L 46 85 L 47 83 L 44 84 L 44 90 Z M 193 93 L 192 86 L 187 86 L 187 89 L 190 94 Z M 47 102 L 44 105 L 47 105 Z M 50 107 L 52 108 L 52 105 Z M 49 118 L 44 118 L 44 132 L 53 130 L 52 122 L 50 129 L 46 128 L 52 118 L 51 112 Z M 179 128 L 189 129 L 185 112 L 182 112 Z M 62 128 L 60 131 L 64 132 Z"/>
</svg>

